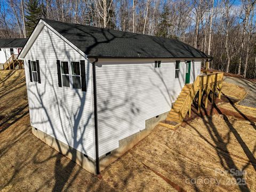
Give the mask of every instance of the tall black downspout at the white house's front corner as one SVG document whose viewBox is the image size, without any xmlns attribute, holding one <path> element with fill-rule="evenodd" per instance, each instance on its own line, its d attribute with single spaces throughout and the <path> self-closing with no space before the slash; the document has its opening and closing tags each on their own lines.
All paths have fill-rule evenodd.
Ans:
<svg viewBox="0 0 256 192">
<path fill-rule="evenodd" d="M 96 69 L 95 63 L 98 58 L 92 62 L 92 82 L 93 82 L 93 106 L 94 106 L 94 133 L 95 133 L 95 156 L 96 156 L 96 174 L 100 174 L 100 158 L 99 158 L 99 134 L 98 134 L 98 105 L 97 105 L 97 86 L 96 86 Z"/>
</svg>

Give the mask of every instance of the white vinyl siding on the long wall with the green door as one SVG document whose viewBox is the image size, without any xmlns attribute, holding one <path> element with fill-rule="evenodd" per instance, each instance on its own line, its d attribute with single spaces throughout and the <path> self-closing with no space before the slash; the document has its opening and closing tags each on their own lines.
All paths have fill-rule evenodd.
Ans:
<svg viewBox="0 0 256 192">
<path fill-rule="evenodd" d="M 175 60 L 99 60 L 97 99 L 99 155 L 118 148 L 119 140 L 145 129 L 145 120 L 169 111 L 185 84 L 186 64 Z"/>
</svg>

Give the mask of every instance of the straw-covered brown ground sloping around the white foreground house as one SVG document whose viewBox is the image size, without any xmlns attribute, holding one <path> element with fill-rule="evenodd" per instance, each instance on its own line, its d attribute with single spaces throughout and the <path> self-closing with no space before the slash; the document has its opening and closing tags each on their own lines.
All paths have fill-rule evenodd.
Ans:
<svg viewBox="0 0 256 192">
<path fill-rule="evenodd" d="M 227 98 L 156 126 L 96 177 L 31 133 L 23 71 L 0 78 L 0 191 L 256 191 L 255 113 L 232 115 Z"/>
</svg>

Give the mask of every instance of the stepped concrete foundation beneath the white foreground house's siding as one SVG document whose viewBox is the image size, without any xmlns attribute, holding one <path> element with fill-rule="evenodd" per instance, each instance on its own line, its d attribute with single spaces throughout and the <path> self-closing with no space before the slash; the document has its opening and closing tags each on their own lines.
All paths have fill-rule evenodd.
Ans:
<svg viewBox="0 0 256 192">
<path fill-rule="evenodd" d="M 147 119 L 145 121 L 145 129 L 135 133 L 133 135 L 130 135 L 127 138 L 124 138 L 119 141 L 119 148 L 111 151 L 109 155 L 103 155 L 100 157 L 100 171 L 104 170 L 109 164 L 113 163 L 118 159 L 120 156 L 122 156 L 126 151 L 131 149 L 135 144 L 137 144 L 140 140 L 145 138 L 151 130 L 154 129 L 154 127 L 157 125 L 158 122 L 163 121 L 167 114 L 166 112 L 164 114 L 158 115 L 158 117 L 153 117 L 150 119 Z M 53 149 L 59 151 L 59 153 L 65 155 L 78 165 L 82 166 L 83 169 L 96 174 L 96 165 L 95 161 L 91 159 L 90 157 L 84 156 L 81 152 L 77 151 L 76 149 L 66 145 L 65 143 L 51 137 L 50 135 L 37 130 L 35 127 L 32 127 L 32 133 L 39 139 L 41 139 L 43 142 L 45 142 L 47 145 L 52 147 Z"/>
</svg>

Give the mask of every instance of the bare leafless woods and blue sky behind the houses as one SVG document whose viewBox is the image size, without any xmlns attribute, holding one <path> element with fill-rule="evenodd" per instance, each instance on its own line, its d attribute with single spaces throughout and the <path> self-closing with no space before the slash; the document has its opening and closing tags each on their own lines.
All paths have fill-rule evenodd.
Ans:
<svg viewBox="0 0 256 192">
<path fill-rule="evenodd" d="M 39 18 L 179 39 L 256 77 L 255 0 L 0 0 L 0 37 L 28 37 Z"/>
</svg>

